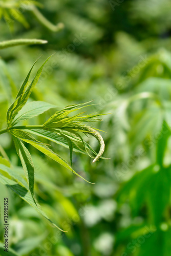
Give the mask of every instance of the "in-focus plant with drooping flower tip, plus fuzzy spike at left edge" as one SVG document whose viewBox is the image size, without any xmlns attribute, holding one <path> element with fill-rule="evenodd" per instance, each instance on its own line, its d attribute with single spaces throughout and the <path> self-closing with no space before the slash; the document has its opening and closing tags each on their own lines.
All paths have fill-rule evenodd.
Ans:
<svg viewBox="0 0 171 256">
<path fill-rule="evenodd" d="M 46 43 L 46 41 L 36 39 L 10 40 L 1 42 L 0 49 L 17 45 L 44 43 Z M 82 177 L 74 171 L 72 166 L 73 151 L 82 154 L 88 154 L 90 157 L 93 157 L 90 153 L 94 154 L 95 157 L 93 157 L 93 163 L 96 162 L 99 158 L 102 158 L 102 154 L 104 152 L 104 141 L 100 133 L 96 129 L 87 125 L 88 122 L 101 120 L 99 118 L 100 114 L 95 113 L 86 115 L 85 112 L 81 112 L 74 115 L 75 111 L 82 110 L 85 106 L 90 105 L 91 101 L 66 106 L 66 108 L 55 112 L 45 123 L 39 125 L 22 125 L 23 121 L 38 116 L 45 111 L 56 107 L 55 105 L 43 101 L 31 101 L 27 103 L 29 96 L 36 86 L 48 59 L 38 69 L 35 77 L 29 83 L 30 74 L 38 59 L 34 62 L 26 79 L 19 89 L 14 102 L 11 104 L 7 111 L 7 127 L 0 131 L 0 135 L 4 133 L 9 133 L 12 135 L 17 155 L 22 163 L 27 179 L 26 182 L 21 175 L 15 172 L 14 167 L 10 168 L 6 164 L 6 159 L 1 159 L 2 161 L 0 161 L 0 169 L 2 172 L 0 174 L 0 182 L 15 191 L 17 195 L 32 205 L 47 219 L 48 217 L 37 206 L 34 195 L 34 165 L 31 154 L 29 153 L 28 148 L 25 146 L 24 142 L 31 144 L 38 151 L 52 158 L 57 163 L 65 166 L 80 178 Z M 100 150 L 98 153 L 96 153 L 91 145 L 82 138 L 82 134 L 92 135 L 98 140 L 100 144 Z M 49 141 L 68 147 L 70 150 L 71 165 L 69 165 L 67 161 L 64 160 L 60 155 L 57 155 L 55 152 L 53 152 L 49 145 L 35 139 L 34 136 L 36 136 L 36 138 L 42 137 Z"/>
</svg>

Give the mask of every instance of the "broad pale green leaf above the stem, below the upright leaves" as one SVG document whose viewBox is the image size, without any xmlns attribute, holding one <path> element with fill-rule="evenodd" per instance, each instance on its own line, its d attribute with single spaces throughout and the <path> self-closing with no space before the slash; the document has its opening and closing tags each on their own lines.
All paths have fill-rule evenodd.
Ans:
<svg viewBox="0 0 171 256">
<path fill-rule="evenodd" d="M 23 109 L 20 110 L 18 114 L 15 116 L 12 125 L 20 121 L 24 121 L 35 116 L 38 116 L 52 108 L 56 108 L 56 106 L 44 101 L 29 102 L 28 104 L 24 105 Z"/>
</svg>

